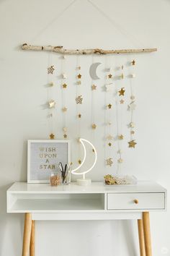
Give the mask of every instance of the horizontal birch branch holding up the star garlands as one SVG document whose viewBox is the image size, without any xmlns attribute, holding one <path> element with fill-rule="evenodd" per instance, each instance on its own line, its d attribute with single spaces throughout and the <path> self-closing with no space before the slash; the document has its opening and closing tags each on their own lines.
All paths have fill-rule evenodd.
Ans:
<svg viewBox="0 0 170 256">
<path fill-rule="evenodd" d="M 22 50 L 33 51 L 54 51 L 57 54 L 136 54 L 143 52 L 157 51 L 157 48 L 143 48 L 143 49 L 120 49 L 120 50 L 103 50 L 99 48 L 94 49 L 64 49 L 63 46 L 31 46 L 27 43 L 22 45 Z"/>
</svg>

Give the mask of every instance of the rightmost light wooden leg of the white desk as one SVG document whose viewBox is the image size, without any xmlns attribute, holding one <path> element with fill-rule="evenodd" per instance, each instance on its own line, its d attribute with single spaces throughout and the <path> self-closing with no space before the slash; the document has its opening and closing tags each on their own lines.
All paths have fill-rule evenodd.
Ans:
<svg viewBox="0 0 170 256">
<path fill-rule="evenodd" d="M 146 247 L 146 256 L 152 256 L 151 249 L 151 231 L 150 231 L 150 221 L 149 221 L 149 213 L 143 213 L 143 234 L 145 240 Z"/>
</svg>

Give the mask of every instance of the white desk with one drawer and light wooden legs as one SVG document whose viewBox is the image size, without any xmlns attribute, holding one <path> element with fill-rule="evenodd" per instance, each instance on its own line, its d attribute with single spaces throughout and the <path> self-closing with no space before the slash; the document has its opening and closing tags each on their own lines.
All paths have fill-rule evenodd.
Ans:
<svg viewBox="0 0 170 256">
<path fill-rule="evenodd" d="M 151 256 L 149 212 L 166 210 L 166 189 L 154 182 L 88 187 L 16 182 L 7 190 L 7 213 L 24 213 L 22 256 L 35 256 L 37 220 L 138 220 L 140 256 Z"/>
</svg>

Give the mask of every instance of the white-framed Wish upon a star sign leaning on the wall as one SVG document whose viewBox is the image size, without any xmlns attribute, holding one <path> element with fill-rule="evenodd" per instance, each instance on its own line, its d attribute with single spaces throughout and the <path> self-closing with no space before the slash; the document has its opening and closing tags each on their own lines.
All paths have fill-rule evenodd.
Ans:
<svg viewBox="0 0 170 256">
<path fill-rule="evenodd" d="M 58 169 L 58 163 L 70 163 L 69 140 L 27 141 L 27 182 L 49 183 L 51 171 Z"/>
</svg>

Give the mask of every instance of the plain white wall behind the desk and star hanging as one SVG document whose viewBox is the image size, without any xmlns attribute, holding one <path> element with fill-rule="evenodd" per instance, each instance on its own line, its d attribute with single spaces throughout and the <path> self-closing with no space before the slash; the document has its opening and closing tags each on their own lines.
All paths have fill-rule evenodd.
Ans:
<svg viewBox="0 0 170 256">
<path fill-rule="evenodd" d="M 49 54 L 21 51 L 19 48 L 21 43 L 57 44 L 70 48 L 158 47 L 156 54 L 135 56 L 138 62 L 136 66 L 138 76 L 135 82 L 138 99 L 135 114 L 138 147 L 133 152 L 126 147 L 123 149 L 125 164 L 122 173 L 134 174 L 138 179 L 153 179 L 170 189 L 169 0 L 93 0 L 108 17 L 115 20 L 115 27 L 88 1 L 78 0 L 66 9 L 70 2 L 68 0 L 0 1 L 1 256 L 18 256 L 21 255 L 22 249 L 23 216 L 6 215 L 6 189 L 15 181 L 26 181 L 27 139 L 45 139 L 50 132 L 46 118 L 47 111 L 42 111 L 41 107 L 47 101 L 47 90 L 44 85 L 47 82 L 46 67 L 49 63 Z M 117 24 L 122 27 L 122 33 Z M 133 56 L 124 56 L 120 59 L 113 57 L 112 61 L 114 64 L 115 61 L 125 63 L 131 57 Z M 50 58 L 58 65 L 59 74 L 60 57 L 52 54 Z M 84 69 L 82 70 L 84 77 L 88 74 L 90 58 L 82 56 L 79 59 Z M 102 62 L 102 68 L 108 61 L 101 57 L 94 58 L 94 61 Z M 73 68 L 76 67 L 75 59 L 75 57 L 67 58 L 67 63 L 71 63 L 71 69 L 69 65 L 67 66 L 70 77 L 73 77 L 75 72 Z M 99 72 L 102 75 L 102 69 Z M 84 81 L 90 85 L 88 76 Z M 75 93 L 74 89 L 71 90 L 73 78 L 68 82 L 72 97 Z M 99 86 L 102 82 L 103 80 L 100 81 Z M 60 104 L 57 96 L 60 82 L 56 80 L 56 83 L 58 85 L 55 89 L 56 100 Z M 104 94 L 99 94 L 100 101 L 103 101 L 102 95 Z M 88 95 L 84 97 L 88 99 Z M 70 111 L 74 111 L 74 107 L 70 106 L 70 108 Z M 57 113 L 56 118 L 61 120 L 60 111 Z M 99 114 L 98 112 L 95 114 L 97 121 Z M 71 136 L 74 136 L 74 124 L 70 114 L 68 126 Z M 62 122 L 54 125 L 54 132 L 57 133 L 58 138 L 62 136 L 62 125 Z M 96 136 L 100 132 L 103 136 L 103 127 L 99 128 Z M 87 131 L 83 129 L 82 133 L 91 139 L 89 129 Z M 97 139 L 96 143 L 99 143 Z M 103 159 L 103 148 L 97 144 L 97 149 L 100 158 Z M 102 180 L 102 176 L 109 171 L 104 168 L 101 160 L 91 174 L 91 178 Z M 170 255 L 169 226 L 169 210 L 166 213 L 151 213 L 154 256 L 164 255 L 166 252 L 164 247 L 169 249 L 166 255 Z M 36 254 L 41 256 L 139 255 L 137 228 L 135 223 L 130 221 L 43 222 L 37 223 L 36 232 Z"/>
</svg>

